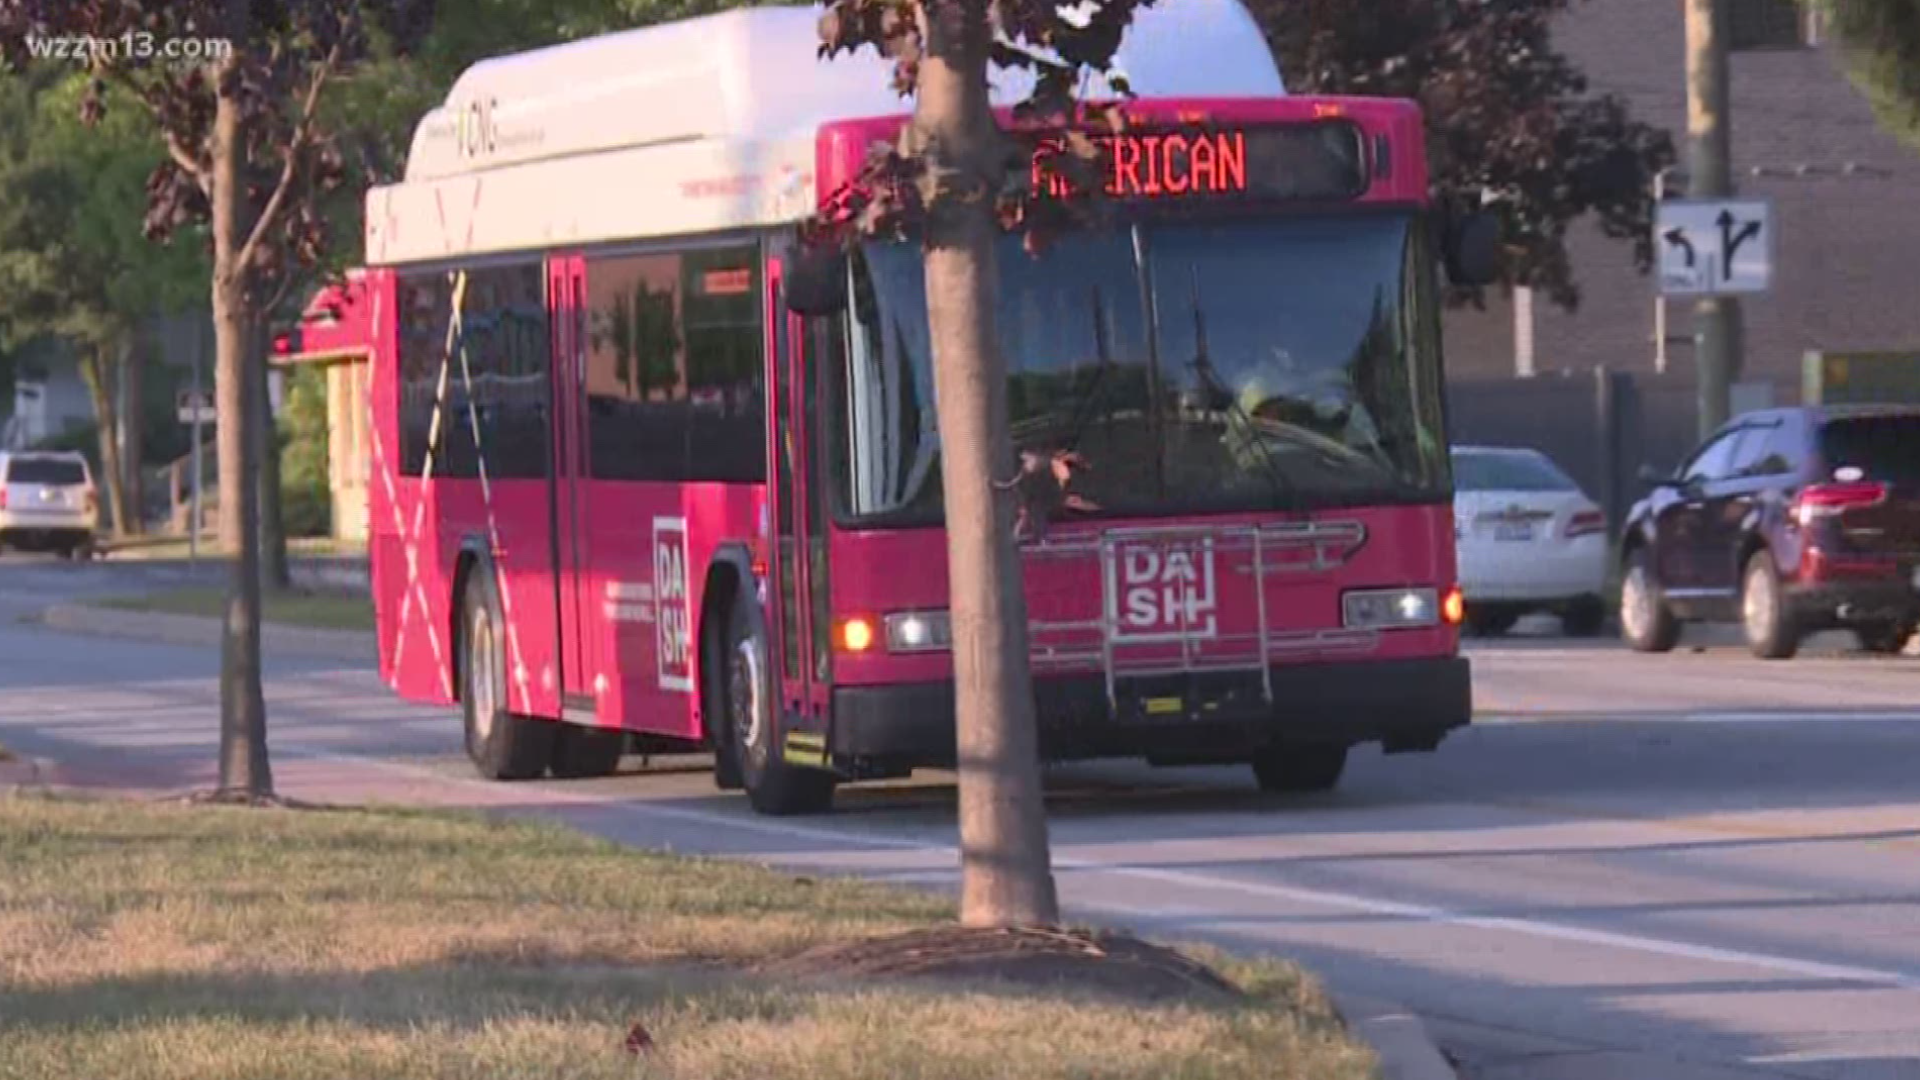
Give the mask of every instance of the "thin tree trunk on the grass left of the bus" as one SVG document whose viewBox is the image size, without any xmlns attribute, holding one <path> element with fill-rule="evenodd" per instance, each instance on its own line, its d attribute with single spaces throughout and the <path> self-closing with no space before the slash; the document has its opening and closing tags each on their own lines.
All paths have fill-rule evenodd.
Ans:
<svg viewBox="0 0 1920 1080">
<path fill-rule="evenodd" d="M 273 794 L 267 765 L 267 701 L 259 665 L 259 480 L 248 380 L 253 325 L 246 300 L 246 242 L 240 102 L 223 92 L 213 106 L 213 402 L 221 455 L 221 544 L 232 552 L 227 626 L 221 640 L 221 796 Z"/>
</svg>

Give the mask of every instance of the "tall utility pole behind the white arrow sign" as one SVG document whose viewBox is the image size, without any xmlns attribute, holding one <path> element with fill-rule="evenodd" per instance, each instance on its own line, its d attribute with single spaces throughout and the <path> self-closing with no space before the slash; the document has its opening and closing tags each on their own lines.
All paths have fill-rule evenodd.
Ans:
<svg viewBox="0 0 1920 1080">
<path fill-rule="evenodd" d="M 1730 0 L 1686 0 L 1686 129 L 1688 196 L 1734 194 L 1732 117 L 1728 117 L 1728 6 Z M 1726 423 L 1732 384 L 1740 377 L 1740 300 L 1703 296 L 1693 306 L 1699 365 L 1699 432 Z"/>
</svg>

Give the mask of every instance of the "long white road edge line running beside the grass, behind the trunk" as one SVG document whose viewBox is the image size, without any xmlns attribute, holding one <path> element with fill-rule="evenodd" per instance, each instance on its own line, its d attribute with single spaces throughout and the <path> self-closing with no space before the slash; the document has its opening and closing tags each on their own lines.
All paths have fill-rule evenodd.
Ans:
<svg viewBox="0 0 1920 1080">
<path fill-rule="evenodd" d="M 497 784 L 488 784 L 486 780 L 468 780 L 463 776 L 445 776 L 430 769 L 420 769 L 417 765 L 401 765 L 394 761 L 382 761 L 378 757 L 365 757 L 357 753 L 338 753 L 330 749 L 280 744 L 282 751 L 296 753 L 301 757 L 313 757 L 321 761 L 334 763 L 353 763 L 382 773 L 392 773 L 397 776 L 407 776 L 413 780 L 434 780 L 442 784 L 457 784 L 476 790 L 486 790 L 490 794 L 499 794 Z M 860 832 L 847 832 L 839 828 L 820 828 L 808 824 L 789 824 L 778 821 L 760 819 L 741 819 L 708 811 L 693 811 L 682 807 L 660 807 L 636 803 L 632 799 L 611 799 L 605 796 L 580 796 L 570 792 L 559 792 L 553 788 L 540 788 L 540 798 L 549 803 L 572 803 L 595 809 L 611 809 L 637 819 L 664 819 L 664 821 L 684 821 L 691 824 L 701 824 L 707 828 L 737 828 L 743 832 L 758 832 L 766 836 L 780 836 L 787 840 L 804 840 L 810 844 L 822 844 L 829 847 L 887 847 L 895 851 L 918 851 L 924 855 L 958 861 L 960 851 L 950 844 L 933 844 L 925 840 L 897 840 L 891 836 L 870 836 Z M 1692 942 L 1676 942 L 1668 938 L 1644 938 L 1638 934 L 1617 934 L 1611 930 L 1592 930 L 1586 926 L 1571 926 L 1565 922 L 1544 922 L 1538 919 L 1494 919 L 1480 915 L 1465 915 L 1459 911 L 1450 911 L 1446 907 L 1428 907 L 1421 903 L 1402 903 L 1396 899 L 1379 899 L 1371 896 L 1348 894 L 1348 892 L 1329 892 L 1311 888 L 1294 888 L 1267 882 L 1246 882 L 1236 878 L 1225 878 L 1217 874 L 1202 874 L 1192 871 L 1169 871 L 1154 867 L 1127 867 L 1114 863 L 1092 863 L 1085 859 L 1054 859 L 1054 871 L 1071 872 L 1098 872 L 1114 874 L 1121 878 L 1150 880 L 1160 884 L 1173 884 L 1183 888 L 1198 890 L 1219 890 L 1219 892 L 1238 892 L 1244 896 L 1258 896 L 1265 899 L 1286 899 L 1292 903 L 1311 903 L 1319 907 L 1332 907 L 1344 911 L 1357 911 L 1363 915 L 1390 915 L 1405 919 L 1409 922 L 1432 922 L 1438 926 L 1461 926 L 1473 930 L 1492 930 L 1503 934 L 1519 934 L 1526 938 L 1542 938 L 1551 942 L 1572 942 L 1582 945 L 1601 945 L 1611 949 L 1647 953 L 1672 959 L 1690 959 L 1703 963 L 1720 963 L 1730 967 L 1747 967 L 1759 970 L 1772 970 L 1776 974 L 1791 974 L 1801 978 L 1822 978 L 1836 982 L 1857 982 L 1866 986 L 1880 986 L 1887 990 L 1914 990 L 1920 992 L 1920 972 L 1905 972 L 1891 969 L 1866 969 L 1851 965 L 1830 965 L 1820 961 L 1807 961 L 1799 957 L 1786 957 L 1778 953 L 1759 953 L 1747 949 L 1722 949 L 1715 945 L 1697 945 Z M 1229 919 L 1221 919 L 1227 922 Z"/>
</svg>

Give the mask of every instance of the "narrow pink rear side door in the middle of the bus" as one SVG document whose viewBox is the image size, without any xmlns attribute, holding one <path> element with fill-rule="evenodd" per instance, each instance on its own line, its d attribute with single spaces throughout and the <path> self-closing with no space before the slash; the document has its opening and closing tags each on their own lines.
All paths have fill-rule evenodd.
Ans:
<svg viewBox="0 0 1920 1080">
<path fill-rule="evenodd" d="M 553 311 L 553 542 L 555 603 L 561 628 L 561 705 L 570 719 L 593 713 L 593 680 L 599 657 L 588 605 L 593 601 L 588 573 L 588 440 L 586 440 L 586 261 L 555 256 L 547 263 L 547 296 Z"/>
</svg>

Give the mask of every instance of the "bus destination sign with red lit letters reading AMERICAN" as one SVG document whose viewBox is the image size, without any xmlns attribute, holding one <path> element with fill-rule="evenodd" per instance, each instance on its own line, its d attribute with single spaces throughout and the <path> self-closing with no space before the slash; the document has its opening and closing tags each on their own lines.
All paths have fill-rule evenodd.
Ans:
<svg viewBox="0 0 1920 1080">
<path fill-rule="evenodd" d="M 1348 121 L 1139 129 L 1089 138 L 1106 160 L 1108 198 L 1127 202 L 1348 200 L 1367 190 L 1365 142 Z M 1033 154 L 1033 190 L 1071 194 L 1068 179 L 1050 167 L 1060 154 L 1060 140 Z"/>
</svg>

